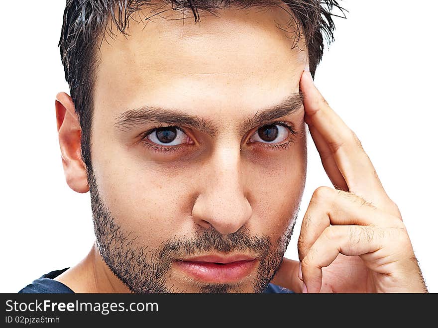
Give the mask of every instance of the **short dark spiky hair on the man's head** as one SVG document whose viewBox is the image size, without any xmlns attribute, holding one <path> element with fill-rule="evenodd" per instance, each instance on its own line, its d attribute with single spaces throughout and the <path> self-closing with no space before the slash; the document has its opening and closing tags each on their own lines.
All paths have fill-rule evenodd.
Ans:
<svg viewBox="0 0 438 328">
<path fill-rule="evenodd" d="M 337 15 L 333 14 L 333 9 L 338 9 L 344 14 L 344 9 L 336 0 L 160 0 L 159 2 L 171 5 L 167 10 L 192 11 L 195 23 L 200 20 L 199 10 L 216 14 L 217 9 L 226 7 L 269 7 L 286 4 L 292 12 L 291 22 L 298 27 L 298 37 L 304 35 L 306 39 L 310 71 L 313 76 L 323 56 L 324 38 L 328 43 L 334 40 L 332 16 Z M 96 67 L 99 64 L 97 50 L 107 32 L 111 35 L 114 31 L 119 31 L 126 35 L 129 21 L 133 19 L 132 14 L 153 5 L 151 0 L 67 0 L 59 47 L 65 77 L 82 128 L 82 158 L 89 173 L 92 170 L 90 136 L 93 89 Z"/>
</svg>

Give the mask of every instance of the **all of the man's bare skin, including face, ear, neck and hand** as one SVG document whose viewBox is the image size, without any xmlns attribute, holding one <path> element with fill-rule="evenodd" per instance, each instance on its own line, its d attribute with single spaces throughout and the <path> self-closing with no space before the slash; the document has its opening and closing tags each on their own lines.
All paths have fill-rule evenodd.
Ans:
<svg viewBox="0 0 438 328">
<path fill-rule="evenodd" d="M 103 43 L 91 136 L 102 202 L 123 230 L 135 231 L 137 245 L 152 250 L 164 240 L 194 238 L 206 229 L 223 236 L 245 229 L 281 240 L 294 223 L 304 189 L 307 123 L 326 172 L 344 191 L 315 192 L 300 234 L 300 262 L 285 259 L 273 282 L 296 292 L 425 291 L 396 205 L 354 133 L 303 73 L 307 52 L 303 44 L 291 50 L 294 29 L 279 29 L 275 21 L 286 24 L 289 15 L 279 8 L 226 9 L 219 17 L 202 16 L 200 26 L 154 18 L 146 25 L 133 21 L 128 38 L 116 35 Z M 304 106 L 281 117 L 295 130 L 287 149 L 253 141 L 260 126 L 239 131 L 257 111 L 281 103 L 300 87 Z M 55 104 L 67 183 L 87 192 L 74 104 L 65 93 Z M 126 110 L 143 106 L 197 115 L 217 133 L 185 129 L 192 141 L 183 150 L 154 152 L 139 135 L 160 125 L 120 129 L 116 124 Z M 368 237 L 371 229 L 379 232 L 376 237 Z M 283 254 L 283 246 L 273 242 L 272 251 Z M 252 291 L 255 270 L 237 291 Z M 129 292 L 96 243 L 56 280 L 75 292 Z M 200 282 L 172 265 L 166 287 L 199 292 Z"/>
</svg>

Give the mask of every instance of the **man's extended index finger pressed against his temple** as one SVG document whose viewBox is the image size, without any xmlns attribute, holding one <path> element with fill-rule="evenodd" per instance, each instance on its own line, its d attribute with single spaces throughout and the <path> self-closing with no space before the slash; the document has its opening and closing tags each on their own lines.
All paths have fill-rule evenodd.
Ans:
<svg viewBox="0 0 438 328">
<path fill-rule="evenodd" d="M 359 139 L 329 107 L 315 87 L 310 72 L 303 73 L 300 88 L 304 94 L 305 120 L 309 130 L 311 133 L 312 130 L 317 130 L 319 138 L 324 139 L 348 190 L 372 203 L 379 203 L 381 196 L 387 198 Z"/>
</svg>

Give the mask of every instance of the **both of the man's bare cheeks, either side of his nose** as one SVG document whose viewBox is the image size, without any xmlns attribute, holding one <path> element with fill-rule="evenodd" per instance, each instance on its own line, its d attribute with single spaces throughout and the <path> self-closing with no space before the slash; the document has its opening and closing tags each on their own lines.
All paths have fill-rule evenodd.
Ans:
<svg viewBox="0 0 438 328">
<path fill-rule="evenodd" d="M 100 196 L 124 230 L 134 231 L 151 246 L 174 236 L 193 235 L 192 209 L 206 179 L 202 167 L 160 165 L 109 143 L 99 147 L 95 142 L 92 155 Z M 303 193 L 306 139 L 298 139 L 286 151 L 242 156 L 242 183 L 253 211 L 248 228 L 253 234 L 280 236 Z"/>
</svg>

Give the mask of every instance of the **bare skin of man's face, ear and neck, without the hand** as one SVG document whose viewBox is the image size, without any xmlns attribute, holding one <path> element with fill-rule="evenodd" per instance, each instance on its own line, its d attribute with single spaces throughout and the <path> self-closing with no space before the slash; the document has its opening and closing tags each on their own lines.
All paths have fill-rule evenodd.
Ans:
<svg viewBox="0 0 438 328">
<path fill-rule="evenodd" d="M 278 144 L 292 141 L 288 149 L 248 142 L 260 126 L 240 130 L 257 111 L 299 92 L 307 61 L 307 53 L 299 49 L 304 44 L 291 50 L 294 34 L 275 23 L 289 19 L 281 9 L 254 8 L 225 10 L 220 18 L 204 15 L 200 26 L 154 19 L 146 25 L 132 22 L 127 39 L 118 36 L 103 43 L 94 93 L 93 170 L 102 202 L 116 223 L 135 232 L 132 247 L 147 245 L 153 252 L 163 241 L 194 239 L 213 228 L 224 236 L 239 229 L 267 236 L 272 251 L 277 250 L 275 242 L 294 223 L 304 189 L 304 109 L 281 117 L 295 130 L 294 136 L 278 139 Z M 67 95 L 58 95 L 60 144 L 67 182 L 86 192 L 80 126 L 72 105 Z M 196 115 L 208 120 L 216 134 L 183 126 L 193 144 L 179 152 L 154 152 L 139 135 L 157 124 L 116 124 L 124 112 L 143 106 Z M 282 256 L 287 240 L 281 246 Z M 213 253 L 219 252 L 208 252 Z M 251 250 L 243 253 L 253 255 Z M 252 292 L 256 270 L 234 291 Z M 78 267 L 57 280 L 76 292 L 128 291 L 96 245 Z M 166 287 L 200 291 L 199 283 L 175 266 Z"/>
</svg>

